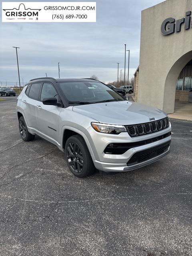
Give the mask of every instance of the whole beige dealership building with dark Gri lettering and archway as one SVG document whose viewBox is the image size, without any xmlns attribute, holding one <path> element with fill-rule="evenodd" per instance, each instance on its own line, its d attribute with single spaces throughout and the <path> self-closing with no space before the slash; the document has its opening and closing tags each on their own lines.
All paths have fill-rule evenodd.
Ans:
<svg viewBox="0 0 192 256">
<path fill-rule="evenodd" d="M 142 11 L 136 101 L 170 114 L 192 90 L 192 1 L 166 0 Z M 192 115 L 192 112 L 191 112 Z"/>
</svg>

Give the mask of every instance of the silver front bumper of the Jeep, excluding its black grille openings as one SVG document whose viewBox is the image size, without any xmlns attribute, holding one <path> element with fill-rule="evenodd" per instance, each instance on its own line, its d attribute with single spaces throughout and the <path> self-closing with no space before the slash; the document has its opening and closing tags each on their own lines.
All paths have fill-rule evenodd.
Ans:
<svg viewBox="0 0 192 256">
<path fill-rule="evenodd" d="M 148 149 L 153 149 L 158 146 L 161 146 L 165 143 L 169 143 L 171 140 L 171 136 L 168 136 L 164 139 L 145 144 L 142 146 L 136 146 L 127 150 L 124 154 L 105 154 L 104 149 L 109 143 L 131 143 L 131 142 L 139 142 L 142 140 L 148 140 L 154 138 L 156 136 L 161 136 L 171 131 L 171 126 L 168 128 L 155 132 L 153 134 L 148 134 L 144 136 L 138 136 L 135 138 L 131 138 L 128 133 L 121 133 L 118 136 L 112 134 L 102 134 L 95 132 L 92 127 L 88 129 L 88 133 L 90 134 L 89 142 L 93 152 L 93 162 L 95 167 L 98 170 L 102 170 L 104 172 L 124 172 L 128 170 L 134 170 L 136 168 L 140 168 L 152 162 L 159 160 L 160 158 L 166 156 L 170 152 L 170 147 L 166 149 L 166 151 L 162 152 L 162 154 L 158 154 L 158 156 L 152 156 L 150 159 L 147 159 L 142 162 L 134 163 L 132 165 L 128 164 L 128 161 L 132 158 L 132 156 L 138 152 L 144 152 Z"/>
</svg>

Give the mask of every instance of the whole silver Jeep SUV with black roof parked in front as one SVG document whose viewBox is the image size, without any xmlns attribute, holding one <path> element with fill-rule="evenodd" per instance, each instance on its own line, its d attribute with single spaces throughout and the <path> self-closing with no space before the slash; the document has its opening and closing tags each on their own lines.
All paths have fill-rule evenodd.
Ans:
<svg viewBox="0 0 192 256">
<path fill-rule="evenodd" d="M 38 136 L 57 145 L 70 171 L 84 177 L 133 170 L 169 153 L 167 115 L 125 100 L 93 79 L 36 78 L 17 100 L 23 140 Z"/>
</svg>

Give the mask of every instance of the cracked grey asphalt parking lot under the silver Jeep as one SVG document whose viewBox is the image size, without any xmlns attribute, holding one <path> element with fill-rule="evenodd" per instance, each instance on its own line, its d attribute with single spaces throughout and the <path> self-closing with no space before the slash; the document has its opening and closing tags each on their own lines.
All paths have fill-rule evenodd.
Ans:
<svg viewBox="0 0 192 256">
<path fill-rule="evenodd" d="M 192 255 L 192 122 L 171 122 L 166 158 L 131 172 L 76 178 L 56 146 L 38 136 L 22 141 L 16 97 L 6 97 L 0 255 Z"/>
</svg>

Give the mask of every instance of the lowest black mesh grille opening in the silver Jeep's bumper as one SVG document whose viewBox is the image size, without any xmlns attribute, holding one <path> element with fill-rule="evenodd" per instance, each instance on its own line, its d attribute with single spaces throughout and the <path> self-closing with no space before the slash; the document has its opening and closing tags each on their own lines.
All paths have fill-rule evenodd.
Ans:
<svg viewBox="0 0 192 256">
<path fill-rule="evenodd" d="M 150 149 L 136 152 L 127 162 L 127 166 L 130 166 L 133 164 L 139 164 L 147 160 L 150 160 L 156 156 L 160 156 L 161 154 L 163 154 L 168 150 L 169 146 L 170 146 L 170 141 Z"/>
</svg>

